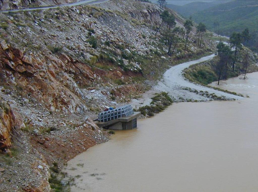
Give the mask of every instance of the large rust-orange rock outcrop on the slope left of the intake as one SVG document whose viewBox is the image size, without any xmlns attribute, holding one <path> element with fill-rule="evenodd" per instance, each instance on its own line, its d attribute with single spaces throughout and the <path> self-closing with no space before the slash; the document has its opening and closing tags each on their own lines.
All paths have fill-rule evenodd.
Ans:
<svg viewBox="0 0 258 192">
<path fill-rule="evenodd" d="M 75 79 L 85 84 L 95 79 L 89 66 L 65 54 L 58 58 L 22 51 L 4 40 L 1 41 L 0 61 L 0 76 L 6 80 L 5 84 L 30 93 L 53 112 L 86 112 L 84 95 Z"/>
</svg>

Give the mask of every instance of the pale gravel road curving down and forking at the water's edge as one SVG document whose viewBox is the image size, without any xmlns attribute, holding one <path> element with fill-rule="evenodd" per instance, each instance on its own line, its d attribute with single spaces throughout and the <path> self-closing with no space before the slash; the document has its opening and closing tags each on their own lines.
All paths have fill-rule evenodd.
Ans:
<svg viewBox="0 0 258 192">
<path fill-rule="evenodd" d="M 158 82 L 156 86 L 154 86 L 151 90 L 147 91 L 143 94 L 142 98 L 139 99 L 132 99 L 130 104 L 134 108 L 138 108 L 140 106 L 149 105 L 152 101 L 150 98 L 153 97 L 154 93 L 159 93 L 161 91 L 168 92 L 169 95 L 173 96 L 176 100 L 180 100 L 179 98 L 182 97 L 184 99 L 192 99 L 192 100 L 203 100 L 208 101 L 207 97 L 203 97 L 197 95 L 193 92 L 188 90 L 183 90 L 182 87 L 189 87 L 191 89 L 196 89 L 198 91 L 208 91 L 209 93 L 215 93 L 217 96 L 225 96 L 226 98 L 234 98 L 234 99 L 244 99 L 243 97 L 232 95 L 225 93 L 223 91 L 218 91 L 212 88 L 208 88 L 202 85 L 194 84 L 183 77 L 182 71 L 188 68 L 190 65 L 197 64 L 200 62 L 208 61 L 212 59 L 215 55 L 209 55 L 202 57 L 198 60 L 185 62 L 179 65 L 175 65 L 168 69 L 164 75 L 163 79 Z"/>
</svg>

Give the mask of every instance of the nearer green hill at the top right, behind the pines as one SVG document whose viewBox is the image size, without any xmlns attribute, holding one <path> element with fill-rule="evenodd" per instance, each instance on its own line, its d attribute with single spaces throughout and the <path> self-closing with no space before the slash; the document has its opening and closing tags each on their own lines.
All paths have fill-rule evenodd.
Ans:
<svg viewBox="0 0 258 192">
<path fill-rule="evenodd" d="M 257 49 L 258 38 L 258 1 L 238 0 L 210 7 L 206 10 L 193 13 L 192 19 L 203 22 L 208 30 L 220 35 L 230 36 L 233 31 L 243 31 L 249 28 L 252 39 L 247 46 Z M 218 22 L 219 26 L 214 26 Z"/>
</svg>

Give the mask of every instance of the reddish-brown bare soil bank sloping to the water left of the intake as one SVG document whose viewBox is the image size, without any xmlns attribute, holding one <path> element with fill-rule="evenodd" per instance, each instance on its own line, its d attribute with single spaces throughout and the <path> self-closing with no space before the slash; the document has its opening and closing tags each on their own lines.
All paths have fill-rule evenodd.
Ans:
<svg viewBox="0 0 258 192">
<path fill-rule="evenodd" d="M 108 141 L 106 130 L 100 132 L 93 122 L 83 123 L 73 130 L 58 131 L 46 136 L 32 136 L 31 145 L 43 154 L 49 163 L 62 165 L 95 144 Z"/>
</svg>

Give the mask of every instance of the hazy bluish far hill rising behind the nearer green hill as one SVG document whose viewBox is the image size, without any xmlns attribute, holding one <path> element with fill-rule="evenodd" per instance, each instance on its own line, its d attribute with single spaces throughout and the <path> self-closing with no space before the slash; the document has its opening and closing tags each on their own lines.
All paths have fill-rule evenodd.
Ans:
<svg viewBox="0 0 258 192">
<path fill-rule="evenodd" d="M 195 1 L 182 6 L 169 4 L 168 2 L 166 7 L 175 10 L 176 12 L 180 13 L 184 17 L 188 17 L 191 14 L 196 13 L 198 11 L 203 11 L 210 7 L 216 6 L 221 3 L 226 3 L 226 2 L 229 2 L 229 0 L 217 0 L 212 2 Z"/>
</svg>

